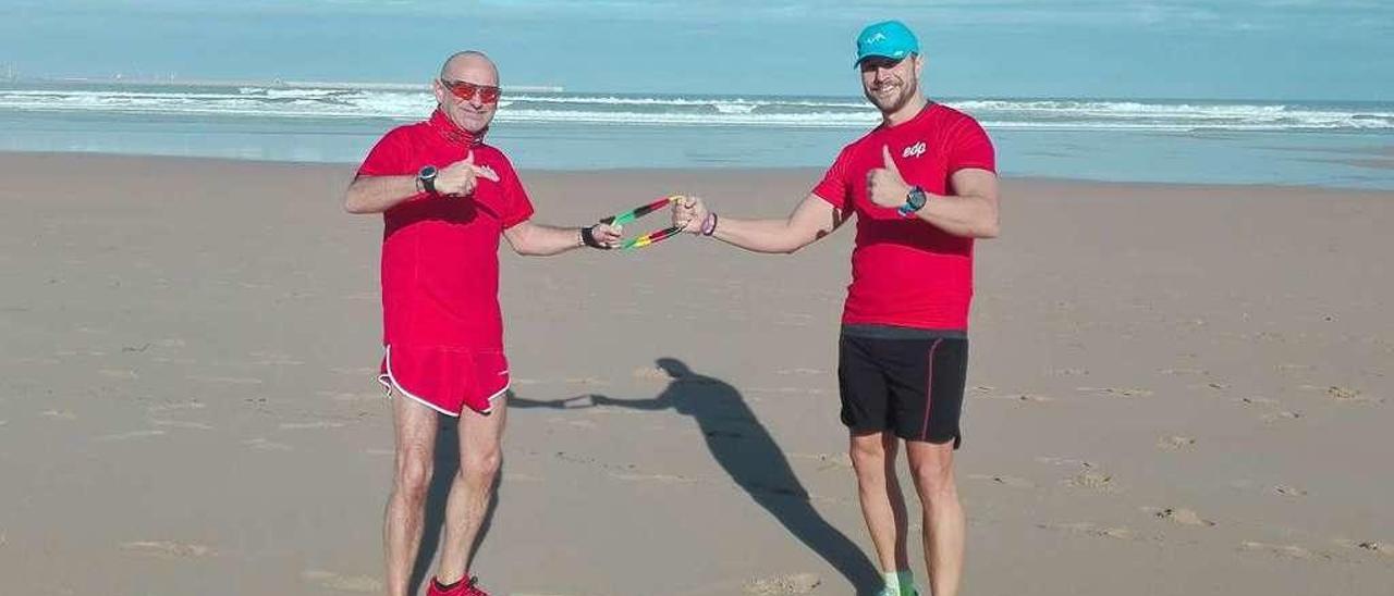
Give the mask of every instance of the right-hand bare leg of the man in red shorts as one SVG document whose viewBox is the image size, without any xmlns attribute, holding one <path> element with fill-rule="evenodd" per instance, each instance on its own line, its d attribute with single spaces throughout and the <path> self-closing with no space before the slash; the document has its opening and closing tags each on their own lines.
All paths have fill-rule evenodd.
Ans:
<svg viewBox="0 0 1394 596">
<path fill-rule="evenodd" d="M 503 460 L 503 422 L 507 414 L 505 395 L 493 400 L 493 412 L 487 416 L 470 409 L 460 414 L 460 473 L 450 483 L 450 499 L 445 505 L 445 543 L 436 570 L 441 583 L 464 578 L 474 558 L 474 539 L 493 499 L 493 479 Z"/>
</svg>

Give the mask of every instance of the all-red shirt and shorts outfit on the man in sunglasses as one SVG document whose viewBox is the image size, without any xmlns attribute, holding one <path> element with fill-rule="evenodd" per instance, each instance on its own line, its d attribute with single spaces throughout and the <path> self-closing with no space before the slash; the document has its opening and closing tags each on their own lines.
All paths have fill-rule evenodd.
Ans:
<svg viewBox="0 0 1394 596">
<path fill-rule="evenodd" d="M 499 238 L 533 216 L 533 202 L 503 152 L 459 130 L 439 110 L 431 120 L 388 132 L 358 168 L 358 175 L 415 175 L 424 166 L 443 168 L 470 152 L 475 164 L 498 174 L 498 182 L 481 177 L 470 196 L 422 192 L 383 213 L 382 343 L 389 354 L 383 373 L 450 414 L 459 412 L 460 400 L 487 411 L 477 394 L 488 397 L 498 389 L 492 386 L 506 386 Z"/>
</svg>

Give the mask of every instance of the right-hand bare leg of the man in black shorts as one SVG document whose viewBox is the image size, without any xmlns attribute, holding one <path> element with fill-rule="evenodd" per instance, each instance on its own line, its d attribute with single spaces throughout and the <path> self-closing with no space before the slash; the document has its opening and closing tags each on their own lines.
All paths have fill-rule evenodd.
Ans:
<svg viewBox="0 0 1394 596">
<path fill-rule="evenodd" d="M 924 505 L 924 564 L 934 596 L 956 596 L 963 575 L 963 505 L 953 482 L 953 443 L 906 441 Z"/>
</svg>

